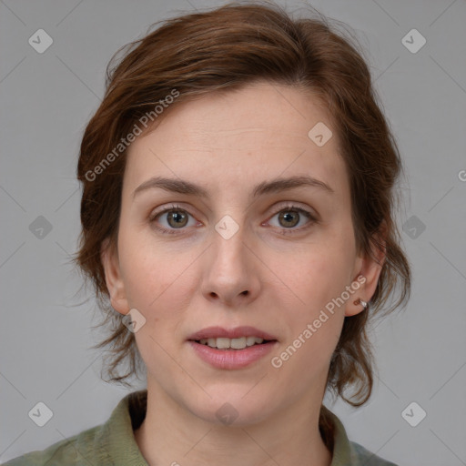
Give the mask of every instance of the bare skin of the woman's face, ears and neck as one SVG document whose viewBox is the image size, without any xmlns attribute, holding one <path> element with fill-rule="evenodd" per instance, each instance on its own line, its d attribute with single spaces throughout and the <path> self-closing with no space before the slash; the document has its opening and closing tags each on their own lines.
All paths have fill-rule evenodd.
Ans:
<svg viewBox="0 0 466 466">
<path fill-rule="evenodd" d="M 137 309 L 146 319 L 135 336 L 147 365 L 147 417 L 135 438 L 149 464 L 331 462 L 319 434 L 329 361 L 345 316 L 363 309 L 353 301 L 374 293 L 383 257 L 378 264 L 357 252 L 338 136 L 334 130 L 318 147 L 308 137 L 318 122 L 331 128 L 315 96 L 259 82 L 170 108 L 128 149 L 117 251 L 104 244 L 102 260 L 113 308 L 125 315 Z M 258 183 L 303 175 L 334 192 L 296 187 L 249 198 Z M 157 187 L 134 196 L 156 176 L 186 179 L 209 197 Z M 288 202 L 317 221 L 299 215 L 289 227 L 279 218 Z M 189 214 L 182 228 L 167 213 L 156 216 L 171 203 Z M 215 229 L 226 215 L 239 228 L 229 239 Z M 271 357 L 360 275 L 366 281 L 356 293 L 272 367 Z M 187 344 L 190 334 L 215 325 L 254 326 L 278 343 L 247 368 L 219 370 Z M 238 412 L 230 425 L 216 416 L 226 402 Z"/>
</svg>

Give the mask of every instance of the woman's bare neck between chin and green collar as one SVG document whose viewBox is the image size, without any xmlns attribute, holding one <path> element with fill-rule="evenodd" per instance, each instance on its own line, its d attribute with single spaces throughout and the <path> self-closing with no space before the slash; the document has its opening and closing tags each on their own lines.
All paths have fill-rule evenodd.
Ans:
<svg viewBox="0 0 466 466">
<path fill-rule="evenodd" d="M 198 418 L 147 380 L 147 414 L 135 438 L 151 466 L 329 466 L 331 452 L 319 432 L 321 399 L 315 401 L 294 402 L 258 423 L 226 426 Z"/>
</svg>

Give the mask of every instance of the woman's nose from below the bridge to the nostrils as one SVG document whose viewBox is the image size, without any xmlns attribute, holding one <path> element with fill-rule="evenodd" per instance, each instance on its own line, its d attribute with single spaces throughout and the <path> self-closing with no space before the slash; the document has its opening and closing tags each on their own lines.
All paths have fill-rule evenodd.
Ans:
<svg viewBox="0 0 466 466">
<path fill-rule="evenodd" d="M 240 227 L 231 238 L 215 231 L 203 262 L 202 294 L 232 308 L 256 299 L 260 289 L 260 261 L 247 244 L 244 229 Z"/>
</svg>

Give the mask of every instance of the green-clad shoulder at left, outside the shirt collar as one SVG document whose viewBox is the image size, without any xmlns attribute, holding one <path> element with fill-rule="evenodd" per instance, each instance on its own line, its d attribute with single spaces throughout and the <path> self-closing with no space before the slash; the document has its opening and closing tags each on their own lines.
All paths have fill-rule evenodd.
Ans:
<svg viewBox="0 0 466 466">
<path fill-rule="evenodd" d="M 42 451 L 29 451 L 3 466 L 63 466 L 74 464 L 108 464 L 106 451 L 99 445 L 103 426 L 82 431 L 63 441 L 57 441 Z"/>
</svg>

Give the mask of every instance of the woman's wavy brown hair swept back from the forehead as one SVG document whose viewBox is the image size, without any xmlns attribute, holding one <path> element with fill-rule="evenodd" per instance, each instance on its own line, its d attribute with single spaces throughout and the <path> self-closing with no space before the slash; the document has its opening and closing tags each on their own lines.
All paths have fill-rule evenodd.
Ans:
<svg viewBox="0 0 466 466">
<path fill-rule="evenodd" d="M 345 318 L 327 381 L 334 394 L 353 406 L 370 398 L 373 359 L 367 324 L 382 309 L 385 315 L 404 305 L 410 295 L 410 266 L 400 248 L 394 219 L 394 185 L 402 167 L 362 52 L 334 31 L 327 18 L 317 15 L 292 19 L 278 5 L 224 5 L 167 20 L 120 48 L 108 64 L 106 94 L 86 126 L 80 147 L 77 177 L 83 184 L 82 232 L 75 260 L 92 281 L 105 313 L 100 325 L 115 324 L 108 338 L 95 347 L 110 347 L 109 381 L 128 386 L 125 380 L 137 375 L 141 363 L 134 334 L 109 304 L 100 258 L 106 238 L 111 248 L 117 244 L 126 151 L 119 147 L 121 154 L 117 154 L 115 147 L 147 112 L 154 113 L 157 104 L 166 102 L 174 89 L 177 99 L 170 108 L 260 79 L 309 90 L 328 108 L 349 173 L 357 247 L 372 257 L 373 248 L 385 251 L 368 309 Z M 113 66 L 122 51 L 125 56 Z M 114 157 L 106 157 L 110 153 Z M 108 163 L 103 165 L 105 157 Z M 129 362 L 129 369 L 120 375 L 117 369 L 123 361 Z M 354 388 L 349 398 L 344 395 L 348 386 Z"/>
</svg>

